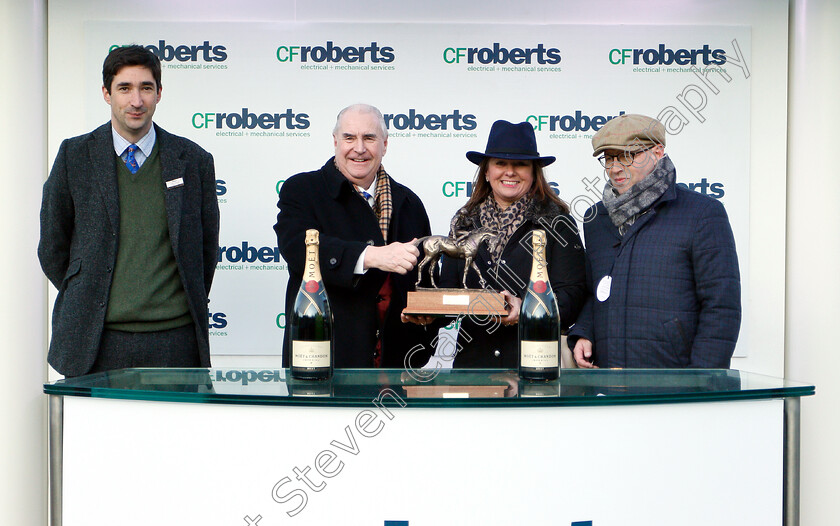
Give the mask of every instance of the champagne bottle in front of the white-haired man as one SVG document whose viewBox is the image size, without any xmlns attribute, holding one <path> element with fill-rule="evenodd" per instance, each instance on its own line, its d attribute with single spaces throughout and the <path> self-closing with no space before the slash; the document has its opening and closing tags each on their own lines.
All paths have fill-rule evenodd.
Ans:
<svg viewBox="0 0 840 526">
<path fill-rule="evenodd" d="M 333 318 L 318 263 L 318 231 L 306 231 L 306 261 L 289 323 L 291 375 L 324 380 L 333 372 Z"/>
</svg>

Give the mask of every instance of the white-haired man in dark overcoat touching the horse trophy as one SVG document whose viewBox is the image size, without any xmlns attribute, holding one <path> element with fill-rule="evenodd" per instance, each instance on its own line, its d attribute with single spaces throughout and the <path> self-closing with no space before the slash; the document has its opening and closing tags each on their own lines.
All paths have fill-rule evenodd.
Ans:
<svg viewBox="0 0 840 526">
<path fill-rule="evenodd" d="M 382 113 L 356 104 L 338 114 L 335 156 L 314 172 L 283 183 L 277 243 L 289 265 L 286 312 L 294 309 L 304 264 L 304 233 L 320 233 L 321 274 L 335 319 L 336 367 L 404 367 L 428 340 L 400 321 L 417 278 L 416 238 L 430 235 L 420 198 L 382 166 L 388 130 Z M 289 331 L 283 365 L 289 366 Z M 423 351 L 427 356 L 431 351 Z"/>
</svg>

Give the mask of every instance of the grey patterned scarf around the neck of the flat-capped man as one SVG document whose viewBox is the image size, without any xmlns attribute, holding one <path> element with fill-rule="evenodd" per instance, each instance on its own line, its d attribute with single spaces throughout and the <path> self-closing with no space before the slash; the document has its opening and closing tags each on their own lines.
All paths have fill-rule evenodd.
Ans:
<svg viewBox="0 0 840 526">
<path fill-rule="evenodd" d="M 639 214 L 662 197 L 665 190 L 673 185 L 676 179 L 677 172 L 671 159 L 666 155 L 656 163 L 651 173 L 621 195 L 618 195 L 612 184 L 607 181 L 603 194 L 604 206 L 613 224 L 618 227 L 619 233 L 624 235 Z"/>
</svg>

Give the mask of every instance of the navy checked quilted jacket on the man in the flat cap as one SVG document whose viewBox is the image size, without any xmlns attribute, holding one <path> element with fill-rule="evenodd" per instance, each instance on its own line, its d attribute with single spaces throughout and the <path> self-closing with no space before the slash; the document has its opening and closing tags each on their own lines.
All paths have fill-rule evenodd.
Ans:
<svg viewBox="0 0 840 526">
<path fill-rule="evenodd" d="M 741 281 L 723 205 L 673 184 L 624 236 L 602 202 L 586 217 L 590 295 L 569 346 L 592 341 L 599 367 L 728 368 Z M 612 286 L 601 302 L 592 291 L 606 275 Z"/>
</svg>

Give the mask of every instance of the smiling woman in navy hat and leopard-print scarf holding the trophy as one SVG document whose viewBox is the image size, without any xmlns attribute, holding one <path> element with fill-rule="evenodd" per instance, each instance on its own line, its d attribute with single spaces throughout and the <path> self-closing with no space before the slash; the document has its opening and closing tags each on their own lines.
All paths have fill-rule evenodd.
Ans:
<svg viewBox="0 0 840 526">
<path fill-rule="evenodd" d="M 508 315 L 492 321 L 464 318 L 454 367 L 515 368 L 516 323 L 533 260 L 531 232 L 546 231 L 549 280 L 564 329 L 575 322 L 586 295 L 583 245 L 569 207 L 546 181 L 543 168 L 555 158 L 537 152 L 533 126 L 496 121 L 484 153 L 467 152 L 467 159 L 478 165 L 473 193 L 452 218 L 449 235 L 458 239 L 475 229 L 489 228 L 498 236 L 490 246 L 480 247 L 475 262 L 487 280 L 486 287 L 505 295 Z M 463 271 L 464 260 L 444 256 L 439 285 L 462 286 Z M 480 288 L 476 273 L 468 274 L 467 286 Z"/>
</svg>

